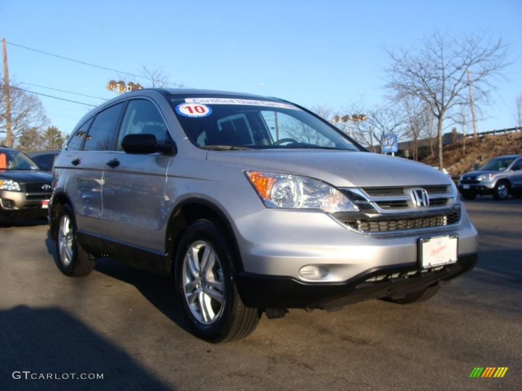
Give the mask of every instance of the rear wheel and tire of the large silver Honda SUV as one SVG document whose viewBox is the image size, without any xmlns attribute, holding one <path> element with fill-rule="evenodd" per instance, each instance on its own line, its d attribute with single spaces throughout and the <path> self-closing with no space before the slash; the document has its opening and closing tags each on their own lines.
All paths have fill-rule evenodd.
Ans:
<svg viewBox="0 0 522 391">
<path fill-rule="evenodd" d="M 76 219 L 70 205 L 62 206 L 56 225 L 56 256 L 58 268 L 69 277 L 91 274 L 95 260 L 81 247 L 76 238 Z"/>
</svg>

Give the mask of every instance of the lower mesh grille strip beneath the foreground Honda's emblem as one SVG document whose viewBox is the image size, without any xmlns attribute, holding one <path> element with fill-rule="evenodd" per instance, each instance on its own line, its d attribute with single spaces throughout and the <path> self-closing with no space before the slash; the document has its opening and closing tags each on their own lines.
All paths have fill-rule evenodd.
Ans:
<svg viewBox="0 0 522 391">
<path fill-rule="evenodd" d="M 340 216 L 337 218 L 343 224 L 346 224 L 350 228 L 362 233 L 407 231 L 412 229 L 436 228 L 457 224 L 460 221 L 460 208 L 454 209 L 447 214 L 428 217 L 369 219 Z"/>
</svg>

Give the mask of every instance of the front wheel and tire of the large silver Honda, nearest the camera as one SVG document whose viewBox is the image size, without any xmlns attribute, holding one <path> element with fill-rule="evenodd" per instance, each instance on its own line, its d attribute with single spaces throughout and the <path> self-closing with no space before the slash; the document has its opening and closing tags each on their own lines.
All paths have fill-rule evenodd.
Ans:
<svg viewBox="0 0 522 391">
<path fill-rule="evenodd" d="M 245 307 L 236 289 L 230 241 L 211 221 L 195 221 L 180 239 L 175 282 L 188 325 L 206 341 L 244 338 L 259 323 L 259 310 Z"/>
</svg>

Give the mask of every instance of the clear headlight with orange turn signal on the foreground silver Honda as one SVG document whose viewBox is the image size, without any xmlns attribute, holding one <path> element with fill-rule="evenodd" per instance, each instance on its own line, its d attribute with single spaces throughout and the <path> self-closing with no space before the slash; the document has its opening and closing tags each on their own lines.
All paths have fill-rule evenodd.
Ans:
<svg viewBox="0 0 522 391">
<path fill-rule="evenodd" d="M 317 179 L 260 171 L 245 174 L 266 207 L 321 209 L 328 213 L 357 211 L 343 193 Z"/>
</svg>

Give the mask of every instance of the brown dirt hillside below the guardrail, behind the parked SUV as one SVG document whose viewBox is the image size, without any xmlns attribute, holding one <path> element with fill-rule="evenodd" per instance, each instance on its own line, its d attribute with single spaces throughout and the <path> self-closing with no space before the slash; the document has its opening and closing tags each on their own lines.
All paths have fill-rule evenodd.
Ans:
<svg viewBox="0 0 522 391">
<path fill-rule="evenodd" d="M 522 132 L 484 136 L 478 139 L 466 139 L 444 147 L 444 167 L 459 177 L 473 169 L 473 165 L 482 165 L 493 157 L 501 155 L 522 154 Z M 438 165 L 436 156 L 424 158 L 422 163 Z"/>
</svg>

